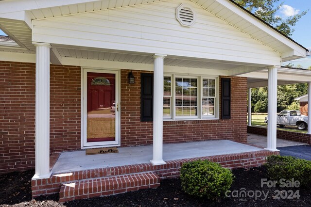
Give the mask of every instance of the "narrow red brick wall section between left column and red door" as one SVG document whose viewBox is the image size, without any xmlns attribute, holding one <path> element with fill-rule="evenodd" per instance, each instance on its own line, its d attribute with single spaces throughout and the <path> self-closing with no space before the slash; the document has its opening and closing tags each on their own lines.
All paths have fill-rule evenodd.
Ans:
<svg viewBox="0 0 311 207">
<path fill-rule="evenodd" d="M 81 68 L 51 65 L 50 151 L 81 149 Z"/>
</svg>

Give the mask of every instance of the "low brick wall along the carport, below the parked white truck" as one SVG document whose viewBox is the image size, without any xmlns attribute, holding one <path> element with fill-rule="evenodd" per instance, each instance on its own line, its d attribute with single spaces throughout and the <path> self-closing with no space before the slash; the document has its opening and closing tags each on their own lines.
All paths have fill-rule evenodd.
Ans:
<svg viewBox="0 0 311 207">
<path fill-rule="evenodd" d="M 266 127 L 247 126 L 247 133 L 259 134 L 267 136 L 268 129 Z M 299 143 L 311 144 L 311 134 L 299 133 L 293 131 L 276 130 L 276 138 Z"/>
</svg>

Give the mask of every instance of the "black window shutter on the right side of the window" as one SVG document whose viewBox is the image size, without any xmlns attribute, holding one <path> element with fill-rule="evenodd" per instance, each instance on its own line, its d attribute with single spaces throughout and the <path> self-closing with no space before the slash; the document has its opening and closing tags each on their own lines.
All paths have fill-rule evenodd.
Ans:
<svg viewBox="0 0 311 207">
<path fill-rule="evenodd" d="M 231 118 L 231 80 L 222 79 L 222 119 Z"/>
</svg>

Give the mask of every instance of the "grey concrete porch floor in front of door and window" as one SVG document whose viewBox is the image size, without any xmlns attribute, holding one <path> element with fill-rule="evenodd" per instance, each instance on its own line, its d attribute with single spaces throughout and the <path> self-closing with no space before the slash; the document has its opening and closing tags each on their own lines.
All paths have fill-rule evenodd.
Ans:
<svg viewBox="0 0 311 207">
<path fill-rule="evenodd" d="M 94 168 L 149 163 L 152 145 L 119 147 L 119 153 L 87 155 L 85 150 L 63 152 L 52 168 L 53 174 Z M 230 140 L 163 144 L 164 161 L 260 151 L 261 148 Z"/>
</svg>

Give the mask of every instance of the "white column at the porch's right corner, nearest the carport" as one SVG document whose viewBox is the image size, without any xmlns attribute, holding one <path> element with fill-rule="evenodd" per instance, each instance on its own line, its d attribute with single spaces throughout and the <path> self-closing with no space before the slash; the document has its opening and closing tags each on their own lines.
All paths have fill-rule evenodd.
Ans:
<svg viewBox="0 0 311 207">
<path fill-rule="evenodd" d="M 277 67 L 268 69 L 268 139 L 266 150 L 276 149 Z"/>
</svg>

